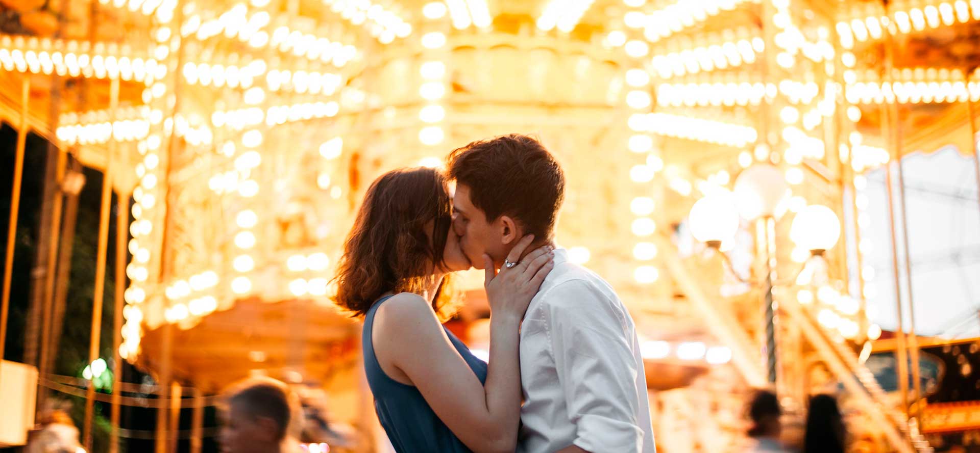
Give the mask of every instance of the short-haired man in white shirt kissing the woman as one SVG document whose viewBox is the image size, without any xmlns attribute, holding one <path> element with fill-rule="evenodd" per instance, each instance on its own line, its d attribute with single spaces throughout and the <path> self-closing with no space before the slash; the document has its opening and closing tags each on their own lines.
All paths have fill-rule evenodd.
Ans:
<svg viewBox="0 0 980 453">
<path fill-rule="evenodd" d="M 517 241 L 553 245 L 564 200 L 561 165 L 537 140 L 505 135 L 454 151 L 453 227 L 473 267 L 501 272 Z M 633 320 L 601 277 L 555 250 L 555 268 L 520 327 L 520 453 L 655 453 Z"/>
</svg>

